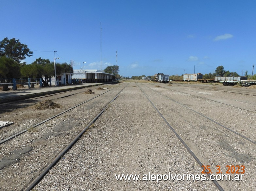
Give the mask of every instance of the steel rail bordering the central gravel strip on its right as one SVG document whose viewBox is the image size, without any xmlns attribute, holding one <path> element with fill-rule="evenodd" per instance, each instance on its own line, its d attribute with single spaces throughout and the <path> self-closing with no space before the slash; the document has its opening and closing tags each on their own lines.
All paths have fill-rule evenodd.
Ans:
<svg viewBox="0 0 256 191">
<path fill-rule="evenodd" d="M 138 84 L 137 84 L 138 85 Z M 139 86 L 138 86 L 139 87 Z M 140 88 L 140 87 L 139 87 Z M 141 89 L 141 88 L 140 88 Z M 155 110 L 158 112 L 158 114 L 162 117 L 162 119 L 165 121 L 165 123 L 169 126 L 169 128 L 173 131 L 173 133 L 178 137 L 179 141 L 185 146 L 185 148 L 188 150 L 188 152 L 191 154 L 191 156 L 196 160 L 196 162 L 200 165 L 200 167 L 204 170 L 203 163 L 196 157 L 196 155 L 193 153 L 193 151 L 188 147 L 188 145 L 183 141 L 183 139 L 179 136 L 179 134 L 172 128 L 172 126 L 169 124 L 169 122 L 165 119 L 165 117 L 162 115 L 162 113 L 157 109 L 157 107 L 154 105 L 153 102 L 148 98 L 148 96 L 145 94 L 145 92 L 141 89 L 141 91 L 146 96 L 147 100 L 152 104 L 152 106 L 155 108 Z M 207 171 L 207 170 L 205 170 Z M 209 172 L 209 171 L 207 171 Z M 207 175 L 210 177 L 210 174 L 207 173 Z M 220 190 L 224 191 L 224 189 L 220 186 L 220 184 L 216 180 L 212 180 L 213 184 Z"/>
</svg>

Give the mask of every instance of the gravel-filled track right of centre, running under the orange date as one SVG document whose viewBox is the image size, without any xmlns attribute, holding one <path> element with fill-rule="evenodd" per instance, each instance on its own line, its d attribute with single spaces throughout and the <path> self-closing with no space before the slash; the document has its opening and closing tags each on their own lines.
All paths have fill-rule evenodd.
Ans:
<svg viewBox="0 0 256 191">
<path fill-rule="evenodd" d="M 200 166 L 226 166 L 232 161 L 231 164 L 244 164 L 247 166 L 247 176 L 253 176 L 254 162 L 251 163 L 251 160 L 255 157 L 253 150 L 256 148 L 256 142 L 254 140 L 251 140 L 226 126 L 221 125 L 210 117 L 177 102 L 169 97 L 171 94 L 169 94 L 169 96 L 166 95 L 168 93 L 163 95 L 156 90 L 152 91 L 152 88 L 145 85 L 138 86 Z M 172 104 L 172 107 L 168 107 L 166 104 L 168 102 L 167 100 L 174 102 L 174 105 Z M 170 103 L 168 105 L 170 105 Z M 180 108 L 180 106 L 184 109 Z M 175 110 L 173 108 L 175 108 Z M 170 113 L 170 111 L 172 111 L 173 114 Z M 176 119 L 176 116 L 179 116 L 179 118 L 181 116 L 183 117 L 182 123 Z M 203 127 L 202 124 L 207 128 Z M 209 142 L 207 140 L 209 140 Z M 237 143 L 241 143 L 241 145 Z M 204 145 L 204 147 L 199 145 Z M 252 149 L 252 152 L 247 155 L 248 153 L 243 151 L 244 147 Z M 223 157 L 223 155 L 228 157 Z M 239 156 L 241 156 L 241 158 Z M 225 159 L 223 160 L 222 158 Z M 229 162 L 227 163 L 227 161 Z M 250 181 L 253 181 L 251 178 L 249 179 Z M 219 185 L 216 183 L 214 184 L 219 190 L 223 190 L 223 187 L 225 189 L 231 189 L 227 182 L 218 182 Z M 233 186 L 235 185 L 234 187 L 236 187 L 238 184 L 239 183 L 234 183 Z"/>
</svg>

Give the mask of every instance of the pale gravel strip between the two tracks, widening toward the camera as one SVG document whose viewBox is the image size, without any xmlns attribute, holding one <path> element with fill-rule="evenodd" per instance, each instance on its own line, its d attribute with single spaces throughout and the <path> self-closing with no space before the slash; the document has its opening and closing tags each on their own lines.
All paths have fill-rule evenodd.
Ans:
<svg viewBox="0 0 256 191">
<path fill-rule="evenodd" d="M 117 181 L 117 174 L 200 174 L 177 137 L 130 84 L 36 190 L 216 190 L 211 181 Z"/>
</svg>

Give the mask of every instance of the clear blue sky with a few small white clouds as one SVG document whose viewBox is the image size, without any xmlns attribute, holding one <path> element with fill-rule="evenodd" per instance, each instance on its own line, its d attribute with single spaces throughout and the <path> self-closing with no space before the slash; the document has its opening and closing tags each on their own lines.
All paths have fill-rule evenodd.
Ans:
<svg viewBox="0 0 256 191">
<path fill-rule="evenodd" d="M 74 60 L 74 69 L 120 75 L 213 73 L 217 66 L 252 73 L 256 1 L 0 0 L 0 40 L 19 39 L 41 57 Z M 101 29 L 102 28 L 102 29 Z M 100 46 L 101 41 L 101 46 Z M 83 62 L 86 62 L 83 64 Z"/>
</svg>

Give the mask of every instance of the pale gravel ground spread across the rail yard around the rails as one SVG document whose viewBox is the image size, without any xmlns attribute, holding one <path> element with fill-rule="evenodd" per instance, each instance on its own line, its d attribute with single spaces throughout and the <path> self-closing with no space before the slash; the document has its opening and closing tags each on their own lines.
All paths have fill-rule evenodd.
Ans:
<svg viewBox="0 0 256 191">
<path fill-rule="evenodd" d="M 15 156 L 18 158 L 17 163 L 0 170 L 0 189 L 26 188 L 127 84 L 116 85 L 118 88 L 103 98 L 95 99 L 42 125 L 40 131 L 28 132 L 8 144 L 0 145 L 0 164 L 8 157 L 14 157 L 13 160 L 16 160 Z M 202 172 L 139 87 L 200 161 L 205 166 L 211 166 L 213 174 L 216 165 L 220 165 L 223 174 L 226 174 L 226 165 L 245 166 L 242 181 L 218 181 L 224 190 L 256 190 L 255 145 L 192 111 L 255 141 L 256 114 L 243 110 L 255 104 L 255 98 L 242 94 L 229 96 L 227 92 L 214 90 L 215 87 L 198 90 L 185 85 L 177 87 L 175 84 L 169 86 L 159 83 L 128 84 L 94 126 L 87 130 L 34 190 L 217 190 L 210 180 L 116 180 L 115 175 L 118 174 L 140 174 L 141 178 L 148 173 L 196 175 Z M 225 88 L 230 90 L 232 87 L 221 87 Z M 232 91 L 235 90 L 232 88 Z M 248 91 L 255 93 L 256 90 Z M 237 101 L 234 101 L 233 95 Z M 81 100 L 84 97 L 78 94 L 75 98 L 60 100 L 58 104 L 72 104 Z M 29 111 L 24 109 L 21 112 Z M 36 117 L 30 120 L 34 123 Z"/>
</svg>

